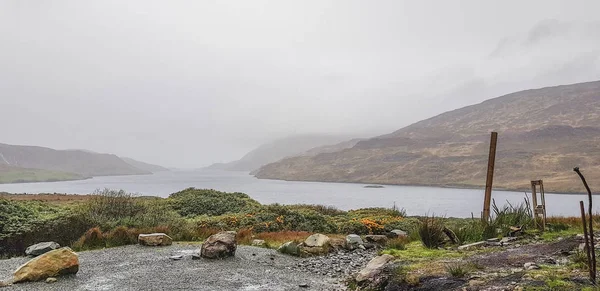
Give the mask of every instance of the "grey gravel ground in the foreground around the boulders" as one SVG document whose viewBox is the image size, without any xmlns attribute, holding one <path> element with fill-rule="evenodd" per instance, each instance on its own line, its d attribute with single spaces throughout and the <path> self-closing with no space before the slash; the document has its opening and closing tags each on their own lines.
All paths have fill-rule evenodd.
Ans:
<svg viewBox="0 0 600 291">
<path fill-rule="evenodd" d="M 345 290 L 340 278 L 298 268 L 302 259 L 275 250 L 238 246 L 235 258 L 192 260 L 198 249 L 199 245 L 174 244 L 80 252 L 77 275 L 59 277 L 52 284 L 22 283 L 2 290 Z M 169 259 L 173 255 L 184 258 Z M 26 261 L 0 260 L 0 278 L 10 278 Z M 305 284 L 308 287 L 300 287 Z"/>
</svg>

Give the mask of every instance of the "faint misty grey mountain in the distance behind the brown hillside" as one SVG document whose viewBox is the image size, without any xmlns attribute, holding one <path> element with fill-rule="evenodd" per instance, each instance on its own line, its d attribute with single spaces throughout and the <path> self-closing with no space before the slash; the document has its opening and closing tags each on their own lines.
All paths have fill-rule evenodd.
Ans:
<svg viewBox="0 0 600 291">
<path fill-rule="evenodd" d="M 253 171 L 263 165 L 286 157 L 303 155 L 306 151 L 326 145 L 346 142 L 351 137 L 337 135 L 297 135 L 273 141 L 247 153 L 241 159 L 229 163 L 218 163 L 210 169 L 229 171 Z M 333 146 L 335 147 L 335 146 Z"/>
</svg>

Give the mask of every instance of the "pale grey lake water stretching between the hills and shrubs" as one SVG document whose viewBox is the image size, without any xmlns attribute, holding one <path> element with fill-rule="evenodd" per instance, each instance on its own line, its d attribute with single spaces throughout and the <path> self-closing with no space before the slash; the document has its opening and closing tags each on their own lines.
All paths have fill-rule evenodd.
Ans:
<svg viewBox="0 0 600 291">
<path fill-rule="evenodd" d="M 171 171 L 154 175 L 97 177 L 82 181 L 0 184 L 0 192 L 86 194 L 96 189 L 123 189 L 132 193 L 167 197 L 179 190 L 196 187 L 227 192 L 243 192 L 261 203 L 308 203 L 332 205 L 349 210 L 364 207 L 405 208 L 409 215 L 426 213 L 447 217 L 479 217 L 482 189 L 385 186 L 364 188 L 365 184 L 290 182 L 259 180 L 244 172 L 215 170 Z M 492 198 L 501 206 L 523 202 L 525 193 L 494 191 Z M 579 216 L 579 201 L 585 195 L 546 194 L 548 215 Z M 597 203 L 596 205 L 600 204 Z M 595 207 L 596 208 L 596 207 Z M 595 209 L 599 212 L 600 205 Z"/>
</svg>

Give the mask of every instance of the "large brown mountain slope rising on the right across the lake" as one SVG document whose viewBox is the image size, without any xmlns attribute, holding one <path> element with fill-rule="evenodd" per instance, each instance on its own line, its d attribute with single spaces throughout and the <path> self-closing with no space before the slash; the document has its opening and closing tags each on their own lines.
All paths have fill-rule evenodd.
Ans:
<svg viewBox="0 0 600 291">
<path fill-rule="evenodd" d="M 526 90 L 446 112 L 315 156 L 261 167 L 258 178 L 482 187 L 489 135 L 498 132 L 494 186 L 582 192 L 580 166 L 600 187 L 600 81 Z"/>
</svg>

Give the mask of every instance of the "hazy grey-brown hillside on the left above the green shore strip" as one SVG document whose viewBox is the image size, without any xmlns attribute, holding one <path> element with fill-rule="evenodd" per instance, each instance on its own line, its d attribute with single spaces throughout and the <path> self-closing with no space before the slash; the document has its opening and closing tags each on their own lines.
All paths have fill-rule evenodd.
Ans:
<svg viewBox="0 0 600 291">
<path fill-rule="evenodd" d="M 111 154 L 8 144 L 0 144 L 0 164 L 66 172 L 81 177 L 150 174 Z"/>
</svg>

